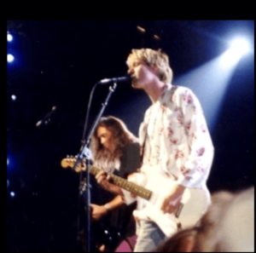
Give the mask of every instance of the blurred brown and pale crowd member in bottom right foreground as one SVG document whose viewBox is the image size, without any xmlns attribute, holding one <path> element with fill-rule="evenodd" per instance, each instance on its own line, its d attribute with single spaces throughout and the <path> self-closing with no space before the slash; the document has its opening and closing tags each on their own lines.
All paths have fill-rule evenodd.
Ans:
<svg viewBox="0 0 256 253">
<path fill-rule="evenodd" d="M 212 194 L 199 226 L 176 233 L 154 252 L 254 252 L 254 187 Z"/>
</svg>

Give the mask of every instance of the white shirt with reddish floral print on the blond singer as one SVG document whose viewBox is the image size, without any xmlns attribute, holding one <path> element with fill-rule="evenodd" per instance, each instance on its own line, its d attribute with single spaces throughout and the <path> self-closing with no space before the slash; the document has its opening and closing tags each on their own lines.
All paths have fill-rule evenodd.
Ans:
<svg viewBox="0 0 256 253">
<path fill-rule="evenodd" d="M 201 104 L 190 89 L 166 83 L 146 111 L 139 136 L 143 165 L 164 171 L 184 187 L 206 187 L 214 148 Z"/>
</svg>

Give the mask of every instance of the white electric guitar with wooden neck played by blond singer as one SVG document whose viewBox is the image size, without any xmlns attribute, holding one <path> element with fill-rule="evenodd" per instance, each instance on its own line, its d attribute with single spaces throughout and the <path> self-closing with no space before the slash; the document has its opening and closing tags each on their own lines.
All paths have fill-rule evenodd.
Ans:
<svg viewBox="0 0 256 253">
<path fill-rule="evenodd" d="M 76 158 L 64 158 L 61 160 L 61 167 L 72 168 L 75 162 Z M 136 193 L 139 198 L 147 200 L 143 210 L 135 210 L 134 215 L 138 217 L 147 216 L 149 220 L 154 221 L 161 228 L 167 237 L 172 236 L 173 231 L 176 231 L 173 226 L 177 226 L 178 222 L 181 223 L 182 228 L 195 226 L 211 204 L 210 193 L 207 188 L 186 188 L 177 209 L 172 214 L 164 213 L 160 208 L 165 198 L 172 192 L 176 182 L 170 180 L 164 173 L 155 173 L 156 170 L 151 169 L 150 167 L 143 168 L 143 170 L 147 170 L 147 178 L 143 186 L 127 181 L 117 175 L 108 175 L 115 185 L 128 192 Z M 79 164 L 76 169 L 77 172 L 81 170 L 85 170 L 83 163 Z M 96 175 L 99 171 L 101 170 L 90 166 L 91 174 Z"/>
</svg>

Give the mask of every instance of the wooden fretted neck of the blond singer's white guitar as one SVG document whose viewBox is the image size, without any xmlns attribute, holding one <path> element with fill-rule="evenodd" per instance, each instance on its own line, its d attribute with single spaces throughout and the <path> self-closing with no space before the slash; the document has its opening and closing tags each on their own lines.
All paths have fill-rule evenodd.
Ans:
<svg viewBox="0 0 256 253">
<path fill-rule="evenodd" d="M 91 166 L 90 167 L 90 173 L 93 175 L 96 175 L 98 172 L 100 172 L 101 170 Z M 126 191 L 130 192 L 130 193 L 135 193 L 137 194 L 137 196 L 141 197 L 141 198 L 145 198 L 147 200 L 149 200 L 149 198 L 152 195 L 152 192 L 149 191 L 148 189 L 145 189 L 144 187 L 140 187 L 137 186 L 137 184 L 131 182 L 131 181 L 127 181 L 124 178 L 121 178 L 117 175 L 113 175 L 111 173 L 108 173 L 108 175 L 112 178 L 113 183 L 123 189 L 125 189 Z"/>
</svg>

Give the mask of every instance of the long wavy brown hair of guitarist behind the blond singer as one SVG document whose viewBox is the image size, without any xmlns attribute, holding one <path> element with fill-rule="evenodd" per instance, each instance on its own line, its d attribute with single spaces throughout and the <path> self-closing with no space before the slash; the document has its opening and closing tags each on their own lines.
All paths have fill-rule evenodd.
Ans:
<svg viewBox="0 0 256 253">
<path fill-rule="evenodd" d="M 105 149 L 97 138 L 96 133 L 99 127 L 104 127 L 111 131 L 112 138 L 110 141 L 113 141 L 113 146 L 115 147 L 113 152 Z M 94 135 L 91 138 L 90 151 L 94 160 L 105 158 L 108 161 L 113 161 L 114 159 L 121 158 L 125 147 L 132 142 L 138 142 L 138 139 L 127 129 L 122 120 L 113 116 L 103 117 L 100 119 L 99 124 L 97 124 Z"/>
</svg>

